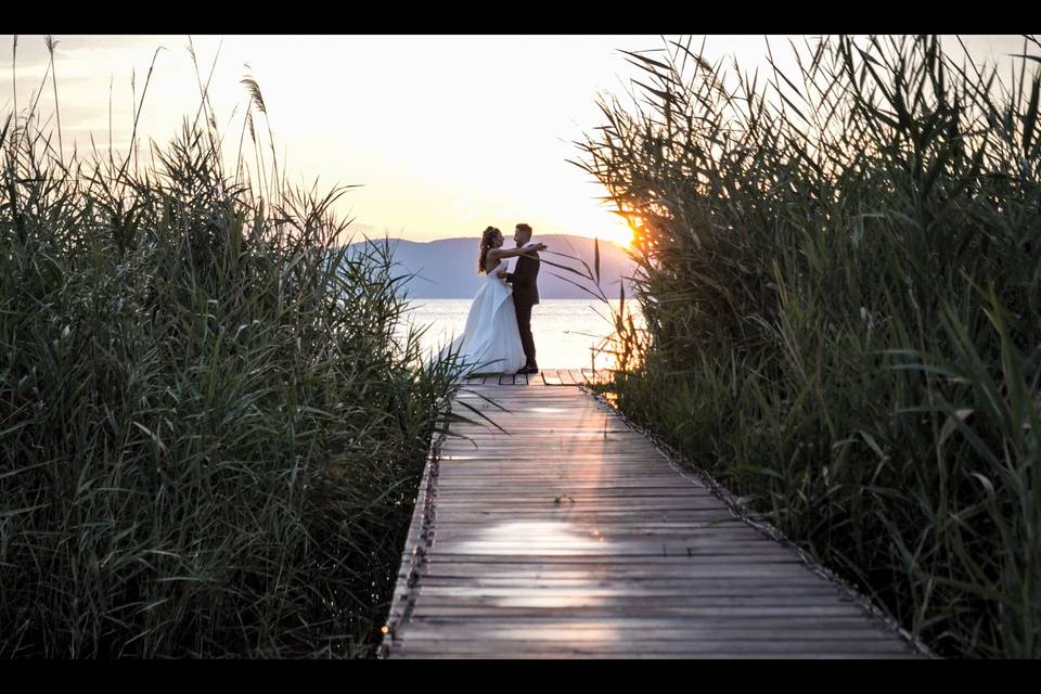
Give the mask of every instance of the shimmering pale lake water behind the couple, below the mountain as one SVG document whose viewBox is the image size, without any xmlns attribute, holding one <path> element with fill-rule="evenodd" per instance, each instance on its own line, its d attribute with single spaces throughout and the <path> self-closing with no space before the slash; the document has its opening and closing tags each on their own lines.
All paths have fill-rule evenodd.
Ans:
<svg viewBox="0 0 1041 694">
<path fill-rule="evenodd" d="M 423 336 L 424 350 L 437 350 L 463 332 L 471 299 L 411 299 L 407 320 L 429 324 Z M 618 301 L 612 301 L 617 309 Z M 626 310 L 635 308 L 626 301 Z M 531 334 L 540 369 L 596 369 L 612 365 L 609 355 L 593 358 L 592 347 L 612 332 L 611 313 L 602 301 L 590 299 L 542 299 L 531 309 Z"/>
</svg>

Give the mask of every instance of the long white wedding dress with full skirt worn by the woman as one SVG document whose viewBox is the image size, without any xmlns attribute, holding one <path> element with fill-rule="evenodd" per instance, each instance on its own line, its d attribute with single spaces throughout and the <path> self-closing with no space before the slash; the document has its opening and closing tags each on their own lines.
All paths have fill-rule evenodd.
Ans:
<svg viewBox="0 0 1041 694">
<path fill-rule="evenodd" d="M 458 351 L 460 361 L 468 364 L 467 371 L 472 373 L 512 374 L 526 363 L 513 307 L 513 287 L 497 277 L 504 268 L 500 260 L 485 275 L 485 283 L 470 306 L 463 334 L 442 351 L 442 355 Z"/>
</svg>

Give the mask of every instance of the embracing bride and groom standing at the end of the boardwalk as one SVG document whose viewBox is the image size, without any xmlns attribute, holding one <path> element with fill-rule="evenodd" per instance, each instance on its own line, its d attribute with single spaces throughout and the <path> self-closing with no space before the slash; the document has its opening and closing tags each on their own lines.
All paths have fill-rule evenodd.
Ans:
<svg viewBox="0 0 1041 694">
<path fill-rule="evenodd" d="M 503 248 L 502 232 L 494 227 L 485 229 L 477 259 L 477 272 L 485 281 L 474 296 L 463 334 L 447 348 L 458 351 L 460 360 L 475 372 L 539 372 L 531 307 L 539 303 L 539 250 L 547 246 L 532 244 L 531 227 L 524 223 L 517 224 L 513 240 L 515 248 Z M 505 260 L 514 257 L 517 265 L 510 272 Z"/>
</svg>

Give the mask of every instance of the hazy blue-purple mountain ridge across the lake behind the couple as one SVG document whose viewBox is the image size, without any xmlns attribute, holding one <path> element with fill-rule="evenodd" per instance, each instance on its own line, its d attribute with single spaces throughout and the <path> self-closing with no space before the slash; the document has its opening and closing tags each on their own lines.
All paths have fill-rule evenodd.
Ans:
<svg viewBox="0 0 1041 694">
<path fill-rule="evenodd" d="M 587 236 L 570 234 L 536 234 L 535 243 L 544 243 L 550 252 L 577 256 L 593 267 L 593 240 Z M 365 243 L 351 244 L 358 246 Z M 420 299 L 460 299 L 471 298 L 480 287 L 484 277 L 477 274 L 478 239 L 440 239 L 427 243 L 415 241 L 391 240 L 394 259 L 402 274 L 415 274 L 407 284 L 408 295 Z M 506 247 L 513 247 L 513 237 L 506 239 Z M 589 298 L 589 294 L 568 282 L 554 277 L 565 277 L 580 284 L 582 279 L 567 270 L 555 268 L 549 262 L 568 266 L 580 271 L 581 262 L 573 258 L 542 254 L 548 262 L 542 264 L 539 270 L 539 296 L 547 299 Z M 516 264 L 515 258 L 507 260 L 511 269 Z M 622 277 L 632 274 L 632 261 L 626 256 L 622 248 L 608 241 L 600 241 L 600 277 L 601 286 L 609 298 L 618 296 L 618 282 Z M 626 283 L 626 295 L 629 296 L 629 283 Z"/>
</svg>

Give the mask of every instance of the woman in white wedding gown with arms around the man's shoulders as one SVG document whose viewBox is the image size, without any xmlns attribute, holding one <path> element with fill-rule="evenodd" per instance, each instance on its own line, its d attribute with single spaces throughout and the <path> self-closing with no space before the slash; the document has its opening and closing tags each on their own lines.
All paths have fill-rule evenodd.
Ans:
<svg viewBox="0 0 1041 694">
<path fill-rule="evenodd" d="M 442 354 L 459 354 L 459 361 L 472 373 L 512 374 L 524 369 L 524 346 L 517 329 L 513 288 L 505 282 L 504 258 L 513 258 L 529 250 L 545 250 L 539 243 L 505 250 L 502 232 L 488 227 L 480 236 L 477 273 L 485 283 L 474 296 L 463 334 L 452 340 Z M 500 277 L 501 275 L 501 277 Z"/>
</svg>

